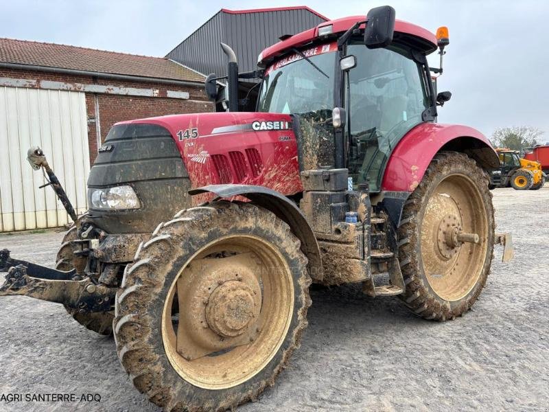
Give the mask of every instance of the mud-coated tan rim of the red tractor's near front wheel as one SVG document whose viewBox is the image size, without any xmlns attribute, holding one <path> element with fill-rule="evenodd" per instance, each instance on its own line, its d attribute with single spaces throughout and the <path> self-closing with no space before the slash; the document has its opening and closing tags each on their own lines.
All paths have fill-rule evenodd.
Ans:
<svg viewBox="0 0 549 412">
<path fill-rule="evenodd" d="M 257 236 L 226 236 L 195 253 L 172 282 L 165 353 L 192 385 L 234 387 L 277 354 L 293 312 L 292 273 L 279 249 Z"/>
</svg>

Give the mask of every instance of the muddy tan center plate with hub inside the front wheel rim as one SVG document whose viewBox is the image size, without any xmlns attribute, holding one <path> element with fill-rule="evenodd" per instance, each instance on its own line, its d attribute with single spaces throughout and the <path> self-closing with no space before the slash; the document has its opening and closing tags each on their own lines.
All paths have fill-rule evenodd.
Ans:
<svg viewBox="0 0 549 412">
<path fill-rule="evenodd" d="M 177 351 L 187 360 L 246 345 L 259 332 L 262 290 L 253 253 L 195 260 L 178 282 Z"/>
</svg>

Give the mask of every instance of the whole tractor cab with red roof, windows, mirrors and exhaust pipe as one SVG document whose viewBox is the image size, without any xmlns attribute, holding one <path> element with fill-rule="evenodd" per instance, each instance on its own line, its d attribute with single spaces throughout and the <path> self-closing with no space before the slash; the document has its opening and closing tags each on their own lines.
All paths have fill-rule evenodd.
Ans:
<svg viewBox="0 0 549 412">
<path fill-rule="evenodd" d="M 436 106 L 451 93 L 436 95 L 426 56 L 449 44 L 447 28 L 434 36 L 417 25 L 395 20 L 390 8 L 329 21 L 265 49 L 259 70 L 238 73 L 229 57 L 229 111 L 239 106 L 237 80 L 260 79 L 256 112 L 294 119 L 302 170 L 347 168 L 352 187 L 379 192 L 387 161 L 414 126 L 436 121 Z M 393 13 L 393 14 L 391 14 Z M 232 73 L 232 75 L 231 75 Z M 232 76 L 232 79 L 231 79 Z M 215 75 L 207 93 L 217 99 Z M 231 90 L 232 87 L 232 90 Z"/>
</svg>

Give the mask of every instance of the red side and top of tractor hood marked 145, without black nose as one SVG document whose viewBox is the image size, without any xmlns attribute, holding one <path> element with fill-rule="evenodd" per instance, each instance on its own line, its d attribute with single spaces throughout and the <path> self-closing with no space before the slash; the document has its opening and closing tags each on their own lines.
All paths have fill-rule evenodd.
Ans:
<svg viewBox="0 0 549 412">
<path fill-rule="evenodd" d="M 262 185 L 281 194 L 301 192 L 292 117 L 279 113 L 226 112 L 150 117 L 121 124 L 168 130 L 192 188 L 212 184 Z M 193 203 L 207 199 L 193 196 Z"/>
</svg>

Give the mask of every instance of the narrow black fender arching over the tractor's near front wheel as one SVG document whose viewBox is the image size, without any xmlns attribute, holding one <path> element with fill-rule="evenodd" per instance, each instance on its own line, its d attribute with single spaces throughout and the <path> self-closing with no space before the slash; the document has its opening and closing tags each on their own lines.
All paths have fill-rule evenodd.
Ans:
<svg viewBox="0 0 549 412">
<path fill-rule="evenodd" d="M 288 223 L 294 234 L 301 241 L 301 249 L 309 260 L 307 264 L 309 275 L 317 282 L 322 281 L 323 266 L 318 242 L 316 242 L 316 237 L 309 222 L 307 222 L 307 218 L 305 218 L 301 209 L 289 198 L 268 187 L 255 185 L 208 185 L 189 190 L 191 196 L 208 192 L 217 195 L 218 198 L 244 196 L 250 199 L 255 205 L 272 211 L 272 213 Z"/>
</svg>

